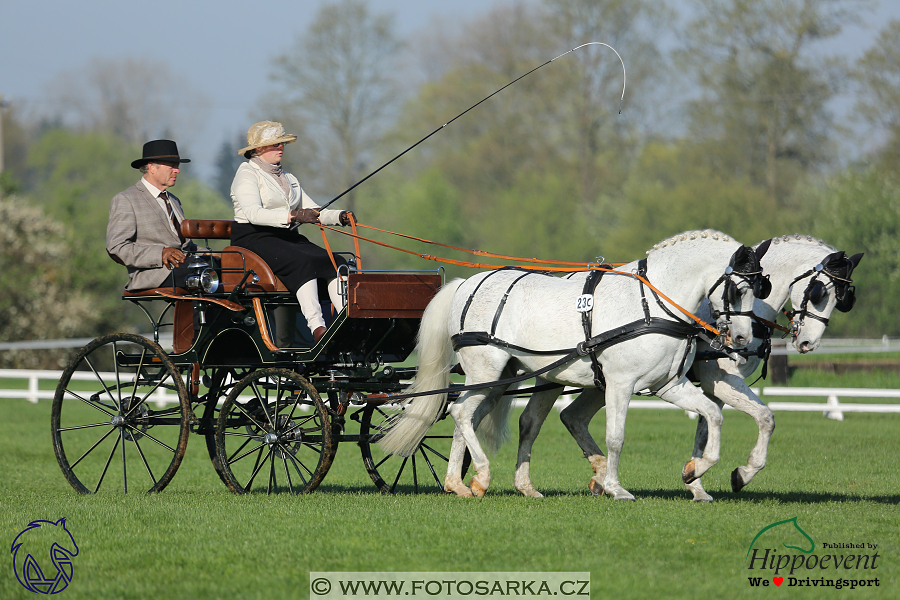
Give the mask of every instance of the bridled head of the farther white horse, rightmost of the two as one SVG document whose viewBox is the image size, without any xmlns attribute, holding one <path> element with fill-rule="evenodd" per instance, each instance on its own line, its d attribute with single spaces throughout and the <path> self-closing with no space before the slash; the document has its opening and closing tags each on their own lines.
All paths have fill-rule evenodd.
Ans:
<svg viewBox="0 0 900 600">
<path fill-rule="evenodd" d="M 791 340 L 800 353 L 812 352 L 822 340 L 836 308 L 849 312 L 856 304 L 851 275 L 863 255 L 832 252 L 791 283 Z M 798 284 L 799 285 L 796 285 Z M 799 308 L 798 308 L 799 307 Z"/>
</svg>

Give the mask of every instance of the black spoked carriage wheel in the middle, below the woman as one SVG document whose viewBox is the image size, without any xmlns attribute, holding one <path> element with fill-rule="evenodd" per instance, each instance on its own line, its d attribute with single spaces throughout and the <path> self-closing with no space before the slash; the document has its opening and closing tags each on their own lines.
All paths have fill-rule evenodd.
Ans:
<svg viewBox="0 0 900 600">
<path fill-rule="evenodd" d="M 243 378 L 228 394 L 216 425 L 219 467 L 236 494 L 313 491 L 331 467 L 334 444 L 318 392 L 287 369 Z"/>
</svg>

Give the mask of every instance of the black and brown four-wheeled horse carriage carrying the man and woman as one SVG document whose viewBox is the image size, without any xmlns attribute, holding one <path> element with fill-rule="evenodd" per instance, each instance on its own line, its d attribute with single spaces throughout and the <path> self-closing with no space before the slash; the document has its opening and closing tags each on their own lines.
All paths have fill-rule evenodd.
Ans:
<svg viewBox="0 0 900 600">
<path fill-rule="evenodd" d="M 209 246 L 230 238 L 231 224 L 189 219 L 181 229 Z M 345 307 L 323 307 L 331 319 L 317 343 L 293 294 L 244 248 L 189 255 L 187 289 L 126 291 L 154 339 L 115 333 L 91 341 L 53 400 L 54 450 L 72 487 L 160 491 L 193 433 L 239 494 L 313 491 L 341 442 L 359 446 L 385 493 L 441 490 L 452 420 L 408 458 L 375 443 L 389 422 L 388 395 L 415 374 L 405 361 L 443 272 L 365 272 L 356 255 L 347 258 L 338 272 Z M 171 352 L 159 344 L 167 331 Z"/>
</svg>

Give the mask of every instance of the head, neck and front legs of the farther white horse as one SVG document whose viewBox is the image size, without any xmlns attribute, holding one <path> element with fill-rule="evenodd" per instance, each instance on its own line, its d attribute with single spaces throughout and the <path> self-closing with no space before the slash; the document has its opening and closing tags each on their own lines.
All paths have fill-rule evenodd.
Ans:
<svg viewBox="0 0 900 600">
<path fill-rule="evenodd" d="M 790 297 L 794 307 L 789 313 L 793 346 L 804 354 L 812 352 L 819 346 L 831 312 L 835 308 L 842 312 L 853 308 L 856 294 L 851 275 L 862 257 L 862 254 L 848 257 L 812 236 L 794 234 L 773 238 L 769 251 L 762 259 L 763 271 L 771 277 L 772 293 L 765 300 L 757 300 L 753 310 L 763 319 L 774 322 Z M 699 314 L 704 316 L 703 310 Z M 698 359 L 693 366 L 694 375 L 707 396 L 719 406 L 728 404 L 747 413 L 759 428 L 759 436 L 747 464 L 731 473 L 731 489 L 734 492 L 739 492 L 766 466 L 769 439 L 775 429 L 772 411 L 744 381 L 767 355 L 771 334 L 771 329 L 756 330 L 753 343 L 741 352 L 747 356 L 744 364 L 729 358 L 699 360 L 711 350 L 701 341 L 697 350 Z M 758 352 L 760 348 L 762 356 Z M 702 456 L 705 445 L 706 423 L 700 419 L 694 456 Z M 695 501 L 712 501 L 699 478 L 686 485 Z"/>
</svg>

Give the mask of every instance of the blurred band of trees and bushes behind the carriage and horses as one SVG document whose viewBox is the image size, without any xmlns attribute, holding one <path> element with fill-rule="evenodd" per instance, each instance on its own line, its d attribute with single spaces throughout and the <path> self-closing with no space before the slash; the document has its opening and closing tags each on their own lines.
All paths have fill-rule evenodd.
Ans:
<svg viewBox="0 0 900 600">
<path fill-rule="evenodd" d="M 855 63 L 822 51 L 867 14 L 866 0 L 699 0 L 684 21 L 664 2 L 498 3 L 456 29 L 411 39 L 376 7 L 324 5 L 266 66 L 272 87 L 248 116 L 280 120 L 299 136 L 285 167 L 320 202 L 537 65 L 603 41 L 627 67 L 621 114 L 618 58 L 584 48 L 478 106 L 335 206 L 454 246 L 584 262 L 633 260 L 692 229 L 747 244 L 809 234 L 866 253 L 854 274 L 859 302 L 829 335 L 900 335 L 900 23 L 873 31 Z M 121 301 L 124 269 L 105 252 L 109 201 L 138 180 L 129 163 L 148 132 L 178 139 L 202 94 L 175 105 L 135 93 L 146 79 L 138 64 L 107 61 L 57 82 L 56 112 L 0 110 L 0 340 L 146 329 Z M 157 88 L 189 87 L 165 70 L 154 76 Z M 856 120 L 838 122 L 833 102 L 848 95 Z M 189 217 L 233 216 L 228 189 L 243 135 L 224 139 L 211 181 L 182 171 L 173 191 Z M 367 268 L 438 266 L 370 244 L 362 252 Z M 0 366 L 26 362 L 0 353 Z"/>
</svg>

